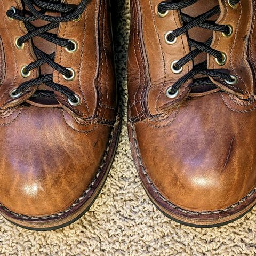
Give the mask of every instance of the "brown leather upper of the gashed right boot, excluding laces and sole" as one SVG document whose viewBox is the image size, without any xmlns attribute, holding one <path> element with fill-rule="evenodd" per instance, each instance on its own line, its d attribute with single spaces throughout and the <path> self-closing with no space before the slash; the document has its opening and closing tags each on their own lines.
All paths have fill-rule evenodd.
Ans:
<svg viewBox="0 0 256 256">
<path fill-rule="evenodd" d="M 159 17 L 161 1 L 131 1 L 131 37 L 128 57 L 129 121 L 138 146 L 138 161 L 147 179 L 174 205 L 190 211 L 225 209 L 237 203 L 256 185 L 255 173 L 255 1 L 201 1 L 182 10 L 192 17 L 220 5 L 217 23 L 231 25 L 233 34 L 213 32 L 211 47 L 227 55 L 223 66 L 201 54 L 209 69 L 238 77 L 229 86 L 212 79 L 217 89 L 191 93 L 183 84 L 177 97 L 166 89 L 193 68 L 187 63 L 180 74 L 170 63 L 190 52 L 188 36 L 205 42 L 211 35 L 202 28 L 182 34 L 166 44 L 168 31 L 182 27 L 179 11 Z M 194 63 L 194 65 L 195 65 Z M 146 180 L 146 181 L 145 181 Z M 153 186 L 152 185 L 152 186 Z"/>
</svg>

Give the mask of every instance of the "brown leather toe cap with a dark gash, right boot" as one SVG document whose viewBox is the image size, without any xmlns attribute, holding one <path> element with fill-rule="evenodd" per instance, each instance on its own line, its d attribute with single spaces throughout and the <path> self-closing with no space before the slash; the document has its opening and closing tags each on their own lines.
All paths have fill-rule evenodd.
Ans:
<svg viewBox="0 0 256 256">
<path fill-rule="evenodd" d="M 256 116 L 225 103 L 215 93 L 184 102 L 171 121 L 135 124 L 144 182 L 182 209 L 226 209 L 256 185 Z"/>
</svg>

